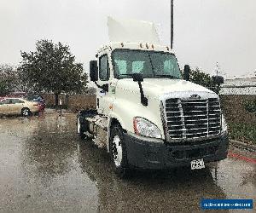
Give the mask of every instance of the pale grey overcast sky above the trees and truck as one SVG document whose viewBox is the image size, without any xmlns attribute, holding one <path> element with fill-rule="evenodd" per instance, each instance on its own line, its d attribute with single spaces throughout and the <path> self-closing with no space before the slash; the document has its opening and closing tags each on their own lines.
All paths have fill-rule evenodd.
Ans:
<svg viewBox="0 0 256 213">
<path fill-rule="evenodd" d="M 256 71 L 255 0 L 174 0 L 174 51 L 181 66 L 241 76 Z M 67 43 L 87 68 L 108 42 L 107 16 L 160 25 L 170 45 L 170 0 L 0 0 L 0 64 L 17 65 L 38 39 Z"/>
</svg>

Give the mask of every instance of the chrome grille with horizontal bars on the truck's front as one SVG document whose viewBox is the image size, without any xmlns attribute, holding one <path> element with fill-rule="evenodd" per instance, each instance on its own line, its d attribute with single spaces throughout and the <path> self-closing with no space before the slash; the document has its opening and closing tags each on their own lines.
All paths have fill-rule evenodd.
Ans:
<svg viewBox="0 0 256 213">
<path fill-rule="evenodd" d="M 166 131 L 170 139 L 193 139 L 220 134 L 221 111 L 217 98 L 166 100 Z"/>
</svg>

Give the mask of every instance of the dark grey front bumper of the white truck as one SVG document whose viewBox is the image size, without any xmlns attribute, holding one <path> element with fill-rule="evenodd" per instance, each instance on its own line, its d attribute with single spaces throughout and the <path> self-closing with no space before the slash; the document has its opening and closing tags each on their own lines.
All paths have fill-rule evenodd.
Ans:
<svg viewBox="0 0 256 213">
<path fill-rule="evenodd" d="M 204 162 L 227 158 L 228 135 L 200 141 L 196 144 L 164 144 L 143 141 L 125 134 L 127 160 L 130 167 L 140 169 L 169 169 L 189 166 L 191 160 L 203 158 Z"/>
</svg>

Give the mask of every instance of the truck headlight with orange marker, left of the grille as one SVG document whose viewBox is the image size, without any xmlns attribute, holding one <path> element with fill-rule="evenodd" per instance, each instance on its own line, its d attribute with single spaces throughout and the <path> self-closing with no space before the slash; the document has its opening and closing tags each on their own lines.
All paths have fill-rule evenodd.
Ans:
<svg viewBox="0 0 256 213">
<path fill-rule="evenodd" d="M 158 127 L 145 118 L 133 118 L 133 128 L 137 135 L 161 138 L 161 133 Z"/>
</svg>

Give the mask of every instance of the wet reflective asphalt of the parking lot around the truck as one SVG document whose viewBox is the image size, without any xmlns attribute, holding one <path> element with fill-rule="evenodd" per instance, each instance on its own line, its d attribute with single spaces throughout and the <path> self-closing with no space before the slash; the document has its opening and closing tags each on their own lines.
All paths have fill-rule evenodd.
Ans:
<svg viewBox="0 0 256 213">
<path fill-rule="evenodd" d="M 120 180 L 108 153 L 79 139 L 75 121 L 72 113 L 0 118 L 1 212 L 197 212 L 201 199 L 254 199 L 255 210 L 256 164 L 230 157 Z"/>
</svg>

